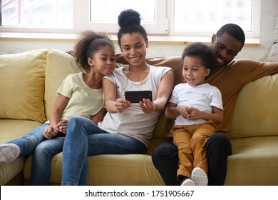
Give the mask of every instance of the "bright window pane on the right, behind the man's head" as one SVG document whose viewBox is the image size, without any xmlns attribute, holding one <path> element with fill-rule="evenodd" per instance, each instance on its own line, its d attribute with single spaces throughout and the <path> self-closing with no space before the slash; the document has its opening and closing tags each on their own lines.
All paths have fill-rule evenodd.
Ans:
<svg viewBox="0 0 278 200">
<path fill-rule="evenodd" d="M 171 6 L 172 35 L 202 35 L 227 23 L 240 25 L 249 37 L 259 34 L 260 1 L 173 0 Z"/>
</svg>

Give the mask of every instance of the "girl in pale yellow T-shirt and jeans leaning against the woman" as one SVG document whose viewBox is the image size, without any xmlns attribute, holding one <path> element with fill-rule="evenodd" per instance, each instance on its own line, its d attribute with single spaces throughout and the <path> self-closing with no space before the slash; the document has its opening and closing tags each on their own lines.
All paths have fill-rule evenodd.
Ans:
<svg viewBox="0 0 278 200">
<path fill-rule="evenodd" d="M 78 115 L 97 124 L 105 115 L 102 79 L 115 69 L 113 43 L 107 36 L 84 31 L 75 46 L 75 56 L 86 73 L 66 77 L 58 89 L 50 121 L 22 138 L 0 145 L 0 162 L 33 154 L 31 185 L 48 184 L 51 159 L 63 149 L 68 119 Z"/>
</svg>

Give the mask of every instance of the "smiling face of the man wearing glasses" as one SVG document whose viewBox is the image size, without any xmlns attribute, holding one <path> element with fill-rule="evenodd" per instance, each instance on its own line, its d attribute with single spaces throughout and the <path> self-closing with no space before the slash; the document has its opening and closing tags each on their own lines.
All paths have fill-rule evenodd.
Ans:
<svg viewBox="0 0 278 200">
<path fill-rule="evenodd" d="M 242 49 L 242 42 L 225 32 L 222 36 L 212 36 L 212 49 L 217 57 L 217 66 L 229 64 Z"/>
</svg>

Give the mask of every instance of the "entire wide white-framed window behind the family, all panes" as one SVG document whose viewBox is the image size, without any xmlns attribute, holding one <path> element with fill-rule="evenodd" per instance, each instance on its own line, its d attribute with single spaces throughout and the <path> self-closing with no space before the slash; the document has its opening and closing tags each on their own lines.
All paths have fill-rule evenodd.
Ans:
<svg viewBox="0 0 278 200">
<path fill-rule="evenodd" d="M 247 37 L 259 37 L 261 0 L 0 0 L 0 3 L 0 31 L 79 33 L 92 29 L 116 34 L 120 11 L 135 9 L 150 35 L 211 36 L 223 24 L 235 23 Z"/>
</svg>

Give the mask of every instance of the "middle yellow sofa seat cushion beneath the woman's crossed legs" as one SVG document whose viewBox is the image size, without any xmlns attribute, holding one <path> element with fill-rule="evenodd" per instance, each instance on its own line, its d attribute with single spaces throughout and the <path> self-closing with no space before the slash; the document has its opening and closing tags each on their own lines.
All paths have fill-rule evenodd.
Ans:
<svg viewBox="0 0 278 200">
<path fill-rule="evenodd" d="M 163 185 L 153 161 L 148 155 L 98 155 L 89 156 L 88 185 Z M 31 174 L 31 156 L 26 159 L 24 179 L 29 183 Z M 51 161 L 49 184 L 60 185 L 62 175 L 62 153 Z"/>
</svg>

